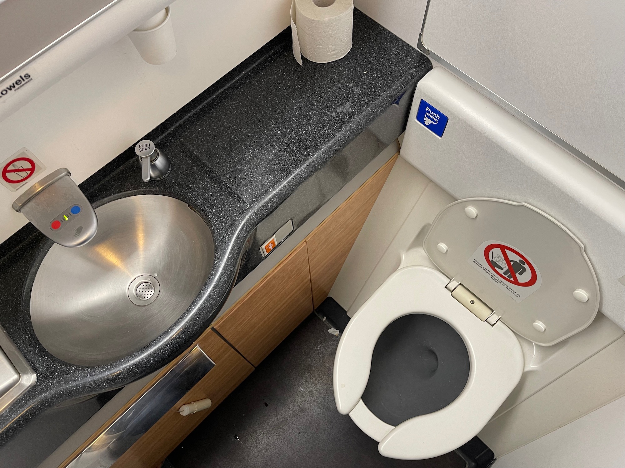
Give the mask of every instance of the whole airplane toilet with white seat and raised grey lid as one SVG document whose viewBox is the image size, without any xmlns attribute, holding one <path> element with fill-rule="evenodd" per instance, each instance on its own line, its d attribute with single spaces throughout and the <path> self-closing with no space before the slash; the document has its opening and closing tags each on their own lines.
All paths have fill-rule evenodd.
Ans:
<svg viewBox="0 0 625 468">
<path fill-rule="evenodd" d="M 527 203 L 451 203 L 422 248 L 435 268 L 394 271 L 351 318 L 334 360 L 338 411 L 396 459 L 472 439 L 521 379 L 517 335 L 551 346 L 599 308 L 584 245 Z"/>
</svg>

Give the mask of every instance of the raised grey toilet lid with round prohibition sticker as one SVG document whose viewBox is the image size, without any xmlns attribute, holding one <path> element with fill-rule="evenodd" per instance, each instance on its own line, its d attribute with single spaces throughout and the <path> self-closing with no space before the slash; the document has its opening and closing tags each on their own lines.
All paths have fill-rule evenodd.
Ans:
<svg viewBox="0 0 625 468">
<path fill-rule="evenodd" d="M 586 328 L 599 309 L 599 285 L 584 245 L 527 203 L 451 203 L 437 215 L 423 246 L 443 273 L 517 334 L 542 346 Z"/>
</svg>

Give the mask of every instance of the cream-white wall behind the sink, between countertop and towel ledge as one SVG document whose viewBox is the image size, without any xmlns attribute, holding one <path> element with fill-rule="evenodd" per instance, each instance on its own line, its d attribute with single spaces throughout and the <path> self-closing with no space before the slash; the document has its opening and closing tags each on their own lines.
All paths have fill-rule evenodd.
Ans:
<svg viewBox="0 0 625 468">
<path fill-rule="evenodd" d="M 161 66 L 128 37 L 0 122 L 0 161 L 27 147 L 46 172 L 83 182 L 289 25 L 289 0 L 180 0 L 171 14 L 178 54 Z M 34 180 L 33 180 L 34 182 Z M 26 224 L 0 186 L 0 242 Z"/>
</svg>

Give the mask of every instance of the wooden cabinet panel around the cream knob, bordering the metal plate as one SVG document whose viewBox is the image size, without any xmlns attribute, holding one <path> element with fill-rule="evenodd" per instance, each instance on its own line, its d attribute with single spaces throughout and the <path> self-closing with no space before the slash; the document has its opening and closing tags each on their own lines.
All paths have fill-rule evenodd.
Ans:
<svg viewBox="0 0 625 468">
<path fill-rule="evenodd" d="M 119 457 L 113 468 L 158 466 L 254 370 L 212 329 L 202 334 L 195 344 L 199 344 L 202 351 L 212 359 L 215 363 L 214 368 L 148 432 L 143 434 L 141 439 L 135 442 L 123 456 Z M 210 398 L 212 401 L 209 409 L 188 416 L 181 416 L 178 412 L 181 405 L 204 398 Z"/>
</svg>

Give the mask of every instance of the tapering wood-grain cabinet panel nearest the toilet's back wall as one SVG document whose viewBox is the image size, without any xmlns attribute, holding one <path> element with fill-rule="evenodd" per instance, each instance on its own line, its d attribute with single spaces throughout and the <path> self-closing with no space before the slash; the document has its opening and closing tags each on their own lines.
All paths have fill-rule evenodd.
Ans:
<svg viewBox="0 0 625 468">
<path fill-rule="evenodd" d="M 327 298 L 396 160 L 397 155 L 379 168 L 307 236 L 312 302 L 315 308 Z"/>
</svg>

